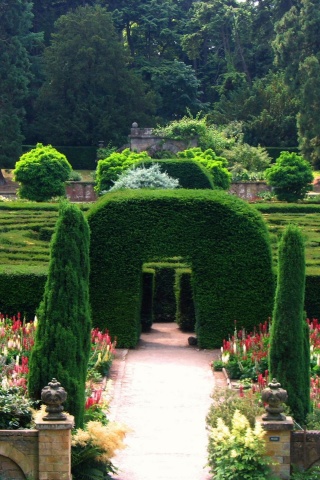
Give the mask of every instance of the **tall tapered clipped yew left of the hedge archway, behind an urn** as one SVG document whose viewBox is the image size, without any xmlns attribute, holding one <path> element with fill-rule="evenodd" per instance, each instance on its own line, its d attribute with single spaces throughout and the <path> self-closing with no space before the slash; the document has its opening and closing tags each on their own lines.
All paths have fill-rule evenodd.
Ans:
<svg viewBox="0 0 320 480">
<path fill-rule="evenodd" d="M 56 378 L 68 394 L 65 409 L 83 425 L 85 382 L 91 346 L 89 307 L 89 227 L 83 213 L 66 200 L 51 243 L 49 273 L 38 309 L 30 358 L 29 395 Z"/>
</svg>

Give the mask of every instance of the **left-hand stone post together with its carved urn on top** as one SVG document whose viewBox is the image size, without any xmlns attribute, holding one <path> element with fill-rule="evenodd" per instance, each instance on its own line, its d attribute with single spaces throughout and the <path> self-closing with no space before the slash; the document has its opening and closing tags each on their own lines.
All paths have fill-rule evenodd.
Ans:
<svg viewBox="0 0 320 480">
<path fill-rule="evenodd" d="M 71 480 L 71 429 L 74 419 L 62 413 L 66 392 L 53 379 L 41 392 L 47 415 L 36 420 L 39 431 L 39 480 Z"/>
</svg>

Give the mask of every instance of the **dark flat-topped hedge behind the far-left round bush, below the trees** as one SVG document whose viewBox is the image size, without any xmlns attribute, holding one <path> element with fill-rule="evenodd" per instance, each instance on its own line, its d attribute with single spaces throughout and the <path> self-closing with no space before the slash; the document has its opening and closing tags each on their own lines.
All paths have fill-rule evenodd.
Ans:
<svg viewBox="0 0 320 480">
<path fill-rule="evenodd" d="M 64 147 L 55 145 L 53 147 L 67 157 L 73 170 L 95 170 L 97 167 L 97 147 Z M 35 148 L 35 145 L 22 145 L 22 152 L 29 152 L 33 148 Z"/>
</svg>

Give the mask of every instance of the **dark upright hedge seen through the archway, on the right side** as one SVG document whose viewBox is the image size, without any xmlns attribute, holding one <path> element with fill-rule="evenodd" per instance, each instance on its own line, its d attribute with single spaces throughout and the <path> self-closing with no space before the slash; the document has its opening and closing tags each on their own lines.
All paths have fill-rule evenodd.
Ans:
<svg viewBox="0 0 320 480">
<path fill-rule="evenodd" d="M 183 332 L 194 332 L 196 314 L 194 310 L 191 269 L 179 269 L 175 277 L 176 322 Z"/>
</svg>

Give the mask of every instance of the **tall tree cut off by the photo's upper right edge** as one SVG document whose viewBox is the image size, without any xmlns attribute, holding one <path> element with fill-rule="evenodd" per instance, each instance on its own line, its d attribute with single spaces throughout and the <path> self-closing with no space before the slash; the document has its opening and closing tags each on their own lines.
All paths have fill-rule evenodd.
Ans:
<svg viewBox="0 0 320 480">
<path fill-rule="evenodd" d="M 276 25 L 277 63 L 299 99 L 299 145 L 314 165 L 320 164 L 320 10 L 317 0 L 301 0 Z"/>
</svg>

